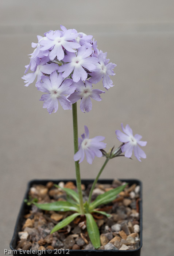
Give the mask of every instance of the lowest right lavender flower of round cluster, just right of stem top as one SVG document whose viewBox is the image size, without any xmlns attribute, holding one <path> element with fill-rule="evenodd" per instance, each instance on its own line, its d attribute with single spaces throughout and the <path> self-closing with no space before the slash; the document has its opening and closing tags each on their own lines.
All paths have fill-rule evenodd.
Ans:
<svg viewBox="0 0 174 256">
<path fill-rule="evenodd" d="M 80 109 L 84 113 L 85 111 L 89 112 L 92 109 L 92 102 L 90 98 L 96 101 L 101 101 L 102 99 L 100 98 L 99 94 L 105 93 L 105 91 L 98 89 L 92 90 L 92 83 L 88 80 L 85 81 L 85 84 L 82 82 L 82 80 L 79 80 L 77 83 L 73 82 L 72 85 L 76 86 L 76 91 L 74 91 L 74 93 L 71 94 L 68 99 L 71 101 L 71 103 L 75 103 L 81 99 Z"/>
</svg>

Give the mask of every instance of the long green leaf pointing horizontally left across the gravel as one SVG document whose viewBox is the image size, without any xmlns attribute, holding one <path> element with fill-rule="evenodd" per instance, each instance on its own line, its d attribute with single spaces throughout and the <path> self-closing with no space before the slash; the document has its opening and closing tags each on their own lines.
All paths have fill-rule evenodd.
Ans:
<svg viewBox="0 0 174 256">
<path fill-rule="evenodd" d="M 46 211 L 77 211 L 79 212 L 79 207 L 76 204 L 72 204 L 65 201 L 57 201 L 53 203 L 37 204 L 34 203 L 38 208 Z"/>
</svg>

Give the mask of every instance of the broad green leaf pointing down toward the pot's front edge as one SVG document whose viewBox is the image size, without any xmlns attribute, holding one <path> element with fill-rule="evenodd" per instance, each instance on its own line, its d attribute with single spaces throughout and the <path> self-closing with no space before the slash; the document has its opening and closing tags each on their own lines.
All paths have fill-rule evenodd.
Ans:
<svg viewBox="0 0 174 256">
<path fill-rule="evenodd" d="M 88 231 L 88 235 L 90 241 L 92 242 L 93 246 L 97 249 L 100 247 L 100 232 L 98 230 L 97 223 L 94 221 L 94 218 L 90 213 L 86 213 L 86 227 Z"/>
</svg>

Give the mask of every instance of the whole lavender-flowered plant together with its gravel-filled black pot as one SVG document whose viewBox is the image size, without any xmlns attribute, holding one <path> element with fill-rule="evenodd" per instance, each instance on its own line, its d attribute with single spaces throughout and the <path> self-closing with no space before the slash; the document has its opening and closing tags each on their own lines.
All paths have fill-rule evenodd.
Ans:
<svg viewBox="0 0 174 256">
<path fill-rule="evenodd" d="M 103 136 L 90 138 L 89 130 L 86 125 L 84 126 L 85 133 L 81 135 L 81 138 L 78 138 L 77 101 L 80 101 L 80 110 L 82 112 L 85 113 L 92 110 L 91 98 L 96 101 L 101 101 L 100 94 L 105 93 L 103 90 L 93 89 L 93 84 L 97 84 L 102 79 L 103 86 L 106 90 L 113 87 L 113 82 L 109 76 L 115 75 L 113 68 L 115 68 L 116 65 L 109 63 L 109 59 L 106 58 L 107 53 L 103 53 L 101 50 L 99 51 L 97 49 L 97 41 L 92 40 L 92 35 L 77 33 L 75 29 L 66 29 L 62 25 L 61 30 L 50 30 L 44 34 L 44 37 L 38 36 L 38 43 L 32 43 L 32 47 L 35 48 L 35 50 L 30 54 L 30 64 L 26 66 L 25 71 L 25 73 L 27 73 L 28 70 L 31 69 L 32 73 L 25 74 L 22 78 L 25 80 L 25 86 L 28 86 L 33 83 L 37 77 L 37 89 L 46 93 L 42 95 L 40 101 L 44 101 L 43 108 L 47 108 L 49 114 L 57 112 L 59 103 L 65 110 L 72 109 L 76 181 L 72 181 L 70 187 L 67 187 L 66 181 L 62 183 L 63 181 L 60 180 L 54 181 L 55 184 L 49 180 L 30 182 L 25 196 L 25 201 L 28 206 L 26 203 L 22 205 L 15 227 L 15 233 L 11 241 L 11 249 L 18 249 L 15 251 L 15 255 L 16 253 L 19 255 L 27 254 L 28 250 L 25 250 L 25 248 L 30 250 L 33 248 L 30 251 L 31 255 L 39 253 L 38 247 L 34 251 L 34 245 L 32 245 L 31 242 L 28 244 L 30 245 L 29 247 L 23 245 L 24 242 L 28 242 L 29 237 L 32 238 L 32 236 L 34 236 L 32 241 L 36 242 L 36 234 L 33 235 L 33 230 L 27 229 L 26 231 L 25 228 L 32 228 L 33 224 L 31 223 L 34 223 L 35 219 L 37 222 L 40 221 L 38 221 L 40 218 L 38 215 L 35 218 L 34 211 L 38 212 L 39 209 L 41 209 L 41 215 L 43 215 L 45 211 L 47 213 L 49 212 L 50 215 L 45 215 L 44 217 L 49 221 L 50 219 L 54 220 L 54 218 L 50 217 L 52 216 L 51 214 L 60 218 L 57 219 L 57 222 L 54 222 L 56 225 L 51 229 L 51 232 L 49 230 L 49 234 L 47 234 L 49 237 L 46 236 L 47 238 L 44 238 L 45 240 L 42 239 L 43 241 L 40 242 L 41 248 L 39 248 L 44 248 L 44 251 L 42 251 L 44 254 L 68 254 L 70 250 L 70 253 L 73 255 L 94 255 L 96 253 L 102 253 L 102 255 L 107 255 L 107 253 L 111 253 L 112 255 L 116 253 L 118 256 L 124 255 L 124 253 L 140 255 L 142 230 L 140 234 L 138 233 L 139 226 L 142 227 L 142 204 L 140 200 L 142 196 L 140 188 L 141 183 L 137 180 L 122 180 L 114 184 L 112 180 L 101 180 L 100 182 L 103 184 L 103 187 L 100 185 L 100 187 L 97 188 L 98 191 L 101 188 L 103 191 L 101 191 L 101 189 L 97 192 L 95 197 L 93 196 L 98 184 L 98 179 L 108 161 L 119 156 L 131 158 L 133 151 L 138 161 L 141 161 L 140 158 L 146 158 L 146 154 L 139 146 L 146 146 L 147 142 L 141 141 L 142 136 L 138 134 L 133 135 L 129 125 L 126 125 L 124 128 L 123 124 L 121 124 L 123 132 L 120 130 L 115 131 L 121 145 L 116 149 L 112 147 L 109 152 L 104 150 L 106 148 L 106 143 L 103 142 L 105 138 Z M 92 164 L 94 157 L 105 158 L 103 166 L 94 181 L 81 181 L 80 163 L 84 161 L 85 155 L 86 161 L 89 164 Z M 82 183 L 88 191 L 82 192 Z M 52 193 L 52 197 L 49 197 L 47 193 L 45 194 L 44 198 L 47 198 L 47 201 L 44 199 L 44 203 L 42 196 L 38 196 L 38 198 L 37 196 L 35 197 L 35 195 L 39 195 L 38 184 L 40 184 L 42 190 L 45 189 L 47 193 Z M 61 195 L 64 193 L 66 198 L 63 196 L 59 197 L 58 200 L 53 198 L 53 193 L 55 193 L 56 189 L 61 192 Z M 34 193 L 32 193 L 33 191 Z M 83 194 L 85 197 L 83 197 Z M 131 199 L 134 200 L 131 201 Z M 27 207 L 31 204 L 35 207 L 35 210 L 32 209 L 30 213 L 27 213 L 29 215 L 26 215 L 25 211 L 28 210 Z M 117 217 L 115 216 L 115 223 L 113 223 L 113 216 L 115 214 L 113 209 L 121 205 L 124 207 L 124 210 L 126 209 L 125 211 L 129 211 L 131 207 L 128 206 L 131 204 L 132 208 L 138 208 L 137 211 L 134 211 L 134 215 L 137 215 L 136 217 L 139 218 L 140 213 L 140 222 L 136 222 L 136 217 L 129 212 L 129 214 L 127 214 L 129 216 L 127 220 L 125 220 L 125 217 L 122 220 L 118 217 L 116 220 Z M 105 207 L 105 205 L 109 205 L 110 208 Z M 58 212 L 58 215 L 55 215 L 56 212 Z M 60 212 L 64 213 L 64 215 L 60 214 Z M 68 212 L 68 214 L 66 214 L 66 212 Z M 22 224 L 24 215 L 28 217 L 28 222 L 26 222 L 29 224 Z M 61 215 L 61 217 L 59 215 Z M 112 222 L 111 227 L 109 227 L 107 224 L 103 226 L 103 221 L 101 225 L 102 222 L 100 221 L 100 225 L 103 226 L 102 234 L 100 234 L 99 231 L 100 225 L 98 224 L 99 221 L 97 222 L 97 218 L 105 218 L 105 223 L 109 223 L 109 221 L 110 223 Z M 132 225 L 132 219 L 134 225 Z M 81 223 L 80 225 L 82 226 L 80 228 L 84 231 L 80 233 L 81 237 L 74 234 L 74 236 L 69 235 L 71 236 L 69 239 L 73 240 L 76 238 L 76 240 L 80 240 L 81 238 L 80 241 L 82 244 L 84 244 L 85 241 L 86 244 L 90 244 L 91 247 L 77 244 L 79 248 L 77 246 L 71 246 L 68 247 L 70 249 L 65 251 L 67 248 L 65 244 L 59 244 L 59 246 L 51 245 L 52 247 L 47 246 L 47 248 L 45 248 L 43 246 L 42 248 L 42 242 L 43 245 L 49 244 L 48 239 L 50 239 L 49 241 L 53 241 L 53 238 L 60 236 L 60 232 L 62 230 L 66 231 L 65 227 L 69 226 L 71 223 L 77 223 L 78 227 L 80 227 L 79 223 Z M 112 231 L 110 232 L 112 233 L 112 238 L 111 234 L 107 234 L 108 237 L 105 235 L 109 233 L 109 231 Z M 19 238 L 17 238 L 17 234 Z M 19 241 L 19 239 L 20 242 L 17 245 L 17 240 Z M 67 241 L 71 243 L 70 240 Z M 140 241 L 138 248 L 136 248 L 137 241 Z"/>
</svg>

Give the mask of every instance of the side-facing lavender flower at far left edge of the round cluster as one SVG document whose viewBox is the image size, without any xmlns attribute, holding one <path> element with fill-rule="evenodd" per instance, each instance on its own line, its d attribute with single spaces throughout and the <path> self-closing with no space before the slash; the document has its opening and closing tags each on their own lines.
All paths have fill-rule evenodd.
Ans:
<svg viewBox="0 0 174 256">
<path fill-rule="evenodd" d="M 28 73 L 22 77 L 24 79 L 25 86 L 28 86 L 29 84 L 33 83 L 36 76 L 37 82 L 36 84 L 41 80 L 41 76 L 44 74 L 51 74 L 53 71 L 58 69 L 58 64 L 51 63 L 47 64 L 49 61 L 49 57 L 44 57 L 41 60 L 39 58 L 36 59 L 36 65 L 34 67 L 33 73 Z"/>
</svg>

